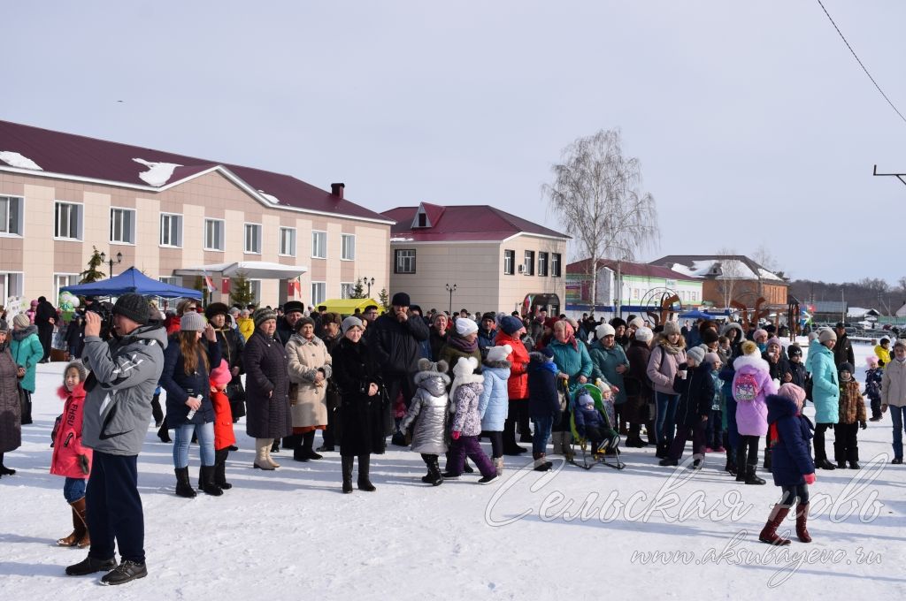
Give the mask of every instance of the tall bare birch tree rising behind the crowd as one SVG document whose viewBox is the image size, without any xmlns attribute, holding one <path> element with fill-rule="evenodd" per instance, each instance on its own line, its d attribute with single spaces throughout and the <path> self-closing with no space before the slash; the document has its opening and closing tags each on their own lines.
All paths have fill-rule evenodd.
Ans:
<svg viewBox="0 0 906 601">
<path fill-rule="evenodd" d="M 554 183 L 545 184 L 548 207 L 579 254 L 590 262 L 592 310 L 597 304 L 598 261 L 632 260 L 660 241 L 654 196 L 641 190 L 641 164 L 625 157 L 619 129 L 598 131 L 564 148 Z M 616 282 L 619 286 L 620 283 Z"/>
</svg>

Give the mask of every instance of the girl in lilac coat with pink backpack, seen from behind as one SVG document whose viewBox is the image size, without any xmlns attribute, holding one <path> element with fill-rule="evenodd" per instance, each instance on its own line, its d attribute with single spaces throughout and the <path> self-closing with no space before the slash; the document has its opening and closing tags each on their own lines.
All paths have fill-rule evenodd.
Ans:
<svg viewBox="0 0 906 601">
<path fill-rule="evenodd" d="M 776 395 L 777 385 L 771 379 L 770 367 L 761 358 L 755 342 L 742 344 L 742 356 L 733 361 L 736 373 L 730 386 L 737 402 L 737 482 L 764 484 L 755 471 L 758 465 L 758 438 L 767 434 L 767 405 L 765 398 Z"/>
</svg>

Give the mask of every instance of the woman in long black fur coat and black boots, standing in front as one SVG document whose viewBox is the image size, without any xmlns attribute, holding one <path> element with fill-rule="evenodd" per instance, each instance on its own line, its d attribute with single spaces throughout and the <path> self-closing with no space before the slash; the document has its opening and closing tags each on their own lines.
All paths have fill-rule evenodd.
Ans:
<svg viewBox="0 0 906 601">
<path fill-rule="evenodd" d="M 352 460 L 359 457 L 359 490 L 373 491 L 371 453 L 384 452 L 383 405 L 387 397 L 381 366 L 361 338 L 361 320 L 342 321 L 343 339 L 333 349 L 333 381 L 340 389 L 342 491 L 352 492 Z"/>
</svg>

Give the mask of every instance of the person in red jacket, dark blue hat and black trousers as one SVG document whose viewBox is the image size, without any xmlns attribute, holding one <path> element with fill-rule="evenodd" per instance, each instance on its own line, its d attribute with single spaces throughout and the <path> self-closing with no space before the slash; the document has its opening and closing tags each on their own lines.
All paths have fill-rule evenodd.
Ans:
<svg viewBox="0 0 906 601">
<path fill-rule="evenodd" d="M 500 328 L 494 344 L 502 347 L 508 344 L 513 352 L 506 358 L 510 362 L 510 377 L 506 380 L 509 393 L 509 406 L 507 407 L 506 422 L 504 422 L 504 454 L 518 455 L 525 453 L 525 447 L 516 444 L 516 422 L 522 433 L 522 442 L 532 442 L 528 429 L 528 350 L 522 343 L 525 334 L 525 325 L 521 320 L 507 315 L 500 320 Z"/>
</svg>

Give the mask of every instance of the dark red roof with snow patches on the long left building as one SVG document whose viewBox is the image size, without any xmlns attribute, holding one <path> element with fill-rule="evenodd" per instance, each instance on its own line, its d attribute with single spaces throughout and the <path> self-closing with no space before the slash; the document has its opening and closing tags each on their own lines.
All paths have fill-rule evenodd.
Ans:
<svg viewBox="0 0 906 601">
<path fill-rule="evenodd" d="M 132 160 L 134 158 L 183 166 L 174 169 L 173 175 L 166 182 L 167 185 L 205 169 L 223 166 L 253 189 L 275 196 L 280 201 L 279 205 L 387 221 L 380 213 L 333 196 L 330 192 L 306 184 L 293 176 L 34 128 L 10 121 L 0 120 L 0 151 L 18 152 L 32 159 L 48 173 L 103 179 L 137 186 L 149 185 L 139 177 L 140 173 L 148 171 L 148 167 Z M 6 167 L 6 164 L 0 161 L 0 168 L 3 167 Z"/>
</svg>

